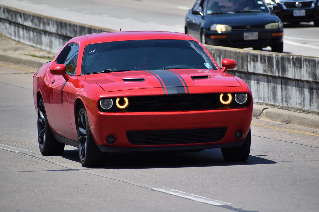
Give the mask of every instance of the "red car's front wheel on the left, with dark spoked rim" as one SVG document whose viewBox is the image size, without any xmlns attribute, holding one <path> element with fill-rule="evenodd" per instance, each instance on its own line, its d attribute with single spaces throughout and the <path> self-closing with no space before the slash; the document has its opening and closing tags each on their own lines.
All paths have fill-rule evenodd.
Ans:
<svg viewBox="0 0 319 212">
<path fill-rule="evenodd" d="M 81 107 L 78 114 L 78 152 L 82 166 L 104 166 L 107 159 L 107 153 L 101 152 L 96 145 L 87 118 L 84 106 Z"/>
</svg>

